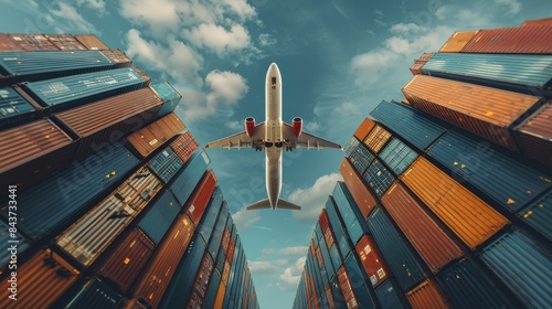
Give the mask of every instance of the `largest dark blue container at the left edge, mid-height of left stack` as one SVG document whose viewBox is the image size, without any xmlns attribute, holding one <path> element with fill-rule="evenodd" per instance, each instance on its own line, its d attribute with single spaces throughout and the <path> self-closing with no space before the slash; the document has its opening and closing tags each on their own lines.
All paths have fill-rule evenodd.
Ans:
<svg viewBox="0 0 552 309">
<path fill-rule="evenodd" d="M 74 161 L 18 194 L 18 204 L 24 205 L 18 209 L 18 227 L 32 239 L 42 238 L 75 213 L 92 206 L 95 199 L 107 195 L 138 162 L 121 143 Z M 9 217 L 8 205 L 0 214 Z"/>
</svg>

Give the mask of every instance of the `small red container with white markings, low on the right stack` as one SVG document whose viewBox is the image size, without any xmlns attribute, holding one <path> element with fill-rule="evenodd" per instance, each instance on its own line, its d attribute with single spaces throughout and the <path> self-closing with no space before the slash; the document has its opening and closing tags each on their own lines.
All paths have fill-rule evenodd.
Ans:
<svg viewBox="0 0 552 309">
<path fill-rule="evenodd" d="M 379 286 L 390 273 L 375 241 L 372 236 L 363 235 L 355 248 L 370 283 L 373 287 Z"/>
</svg>

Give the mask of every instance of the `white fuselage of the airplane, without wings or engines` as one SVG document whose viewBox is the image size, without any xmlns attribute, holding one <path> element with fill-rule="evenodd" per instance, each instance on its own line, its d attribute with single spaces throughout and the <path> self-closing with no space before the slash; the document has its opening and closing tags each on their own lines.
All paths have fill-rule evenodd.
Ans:
<svg viewBox="0 0 552 309">
<path fill-rule="evenodd" d="M 273 210 L 282 191 L 282 75 L 278 66 L 273 63 L 266 73 L 266 192 Z M 279 146 L 279 147 L 278 147 Z"/>
</svg>

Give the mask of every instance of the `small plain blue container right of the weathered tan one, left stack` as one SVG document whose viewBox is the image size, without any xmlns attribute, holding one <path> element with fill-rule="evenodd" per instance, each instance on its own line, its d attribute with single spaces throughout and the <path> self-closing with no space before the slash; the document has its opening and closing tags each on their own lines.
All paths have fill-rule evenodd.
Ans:
<svg viewBox="0 0 552 309">
<path fill-rule="evenodd" d="M 148 212 L 140 220 L 138 226 L 156 245 L 159 245 L 182 206 L 168 190 L 162 190 L 157 195 L 160 195 L 160 198 L 149 206 Z"/>
</svg>

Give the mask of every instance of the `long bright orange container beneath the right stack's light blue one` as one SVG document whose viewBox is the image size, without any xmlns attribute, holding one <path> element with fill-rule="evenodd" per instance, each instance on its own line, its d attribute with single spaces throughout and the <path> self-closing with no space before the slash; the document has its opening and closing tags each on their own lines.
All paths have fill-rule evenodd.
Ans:
<svg viewBox="0 0 552 309">
<path fill-rule="evenodd" d="M 425 75 L 414 76 L 403 94 L 415 108 L 512 150 L 517 147 L 509 127 L 541 100 L 535 96 Z"/>
</svg>

